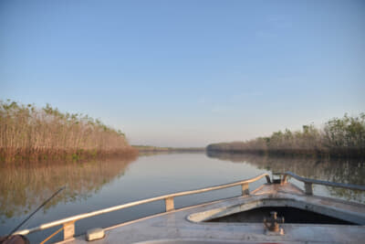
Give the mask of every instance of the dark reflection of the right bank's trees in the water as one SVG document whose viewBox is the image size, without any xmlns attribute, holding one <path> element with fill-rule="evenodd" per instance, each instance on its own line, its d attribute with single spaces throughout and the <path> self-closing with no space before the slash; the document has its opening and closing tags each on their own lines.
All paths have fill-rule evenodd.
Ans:
<svg viewBox="0 0 365 244">
<path fill-rule="evenodd" d="M 255 154 L 227 154 L 207 152 L 207 155 L 234 163 L 252 164 L 267 171 L 291 171 L 297 175 L 345 184 L 365 185 L 364 160 L 308 157 L 275 157 Z M 320 187 L 319 187 L 320 188 Z M 365 202 L 365 194 L 342 188 L 326 187 L 329 195 Z"/>
</svg>

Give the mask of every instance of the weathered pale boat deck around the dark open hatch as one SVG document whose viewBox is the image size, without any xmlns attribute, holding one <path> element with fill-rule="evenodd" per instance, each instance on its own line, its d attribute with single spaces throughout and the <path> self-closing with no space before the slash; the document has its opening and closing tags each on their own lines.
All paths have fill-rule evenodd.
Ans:
<svg viewBox="0 0 365 244">
<path fill-rule="evenodd" d="M 284 235 L 266 232 L 263 223 L 205 222 L 255 207 L 296 207 L 357 225 L 281 224 Z M 104 239 L 78 236 L 60 243 L 363 243 L 365 206 L 308 196 L 290 183 L 266 184 L 250 195 L 237 196 L 105 228 Z"/>
</svg>

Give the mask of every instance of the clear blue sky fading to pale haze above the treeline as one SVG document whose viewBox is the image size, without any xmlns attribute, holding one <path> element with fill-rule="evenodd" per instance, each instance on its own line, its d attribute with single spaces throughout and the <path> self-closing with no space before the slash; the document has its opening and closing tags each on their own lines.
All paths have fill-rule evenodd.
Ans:
<svg viewBox="0 0 365 244">
<path fill-rule="evenodd" d="M 0 100 L 132 144 L 205 146 L 365 112 L 365 1 L 0 1 Z"/>
</svg>

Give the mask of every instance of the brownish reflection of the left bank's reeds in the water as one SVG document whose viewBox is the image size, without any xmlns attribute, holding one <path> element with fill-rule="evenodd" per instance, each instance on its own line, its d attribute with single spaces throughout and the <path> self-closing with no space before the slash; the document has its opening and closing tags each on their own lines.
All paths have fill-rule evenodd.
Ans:
<svg viewBox="0 0 365 244">
<path fill-rule="evenodd" d="M 0 168 L 0 217 L 21 216 L 34 210 L 61 186 L 67 188 L 44 209 L 59 202 L 85 199 L 123 175 L 133 160 L 135 157 L 89 163 L 3 164 Z"/>
</svg>

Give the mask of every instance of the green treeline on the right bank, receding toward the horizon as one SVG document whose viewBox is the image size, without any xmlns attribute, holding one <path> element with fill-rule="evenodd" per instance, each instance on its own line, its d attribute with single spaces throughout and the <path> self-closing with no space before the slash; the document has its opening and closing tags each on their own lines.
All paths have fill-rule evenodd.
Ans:
<svg viewBox="0 0 365 244">
<path fill-rule="evenodd" d="M 209 144 L 207 151 L 365 157 L 365 113 L 359 117 L 345 114 L 343 118 L 334 118 L 322 129 L 303 125 L 302 131 L 285 130 L 245 142 Z"/>
</svg>

